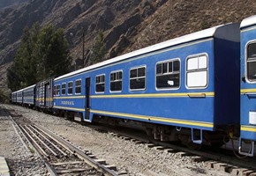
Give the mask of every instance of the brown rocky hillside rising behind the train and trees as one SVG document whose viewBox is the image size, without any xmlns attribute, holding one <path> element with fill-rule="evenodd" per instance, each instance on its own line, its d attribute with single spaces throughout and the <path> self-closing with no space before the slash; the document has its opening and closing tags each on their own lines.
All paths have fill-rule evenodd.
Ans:
<svg viewBox="0 0 256 176">
<path fill-rule="evenodd" d="M 240 22 L 256 14 L 255 5 L 253 0 L 30 0 L 0 11 L 0 82 L 5 85 L 5 69 L 23 28 L 36 21 L 65 29 L 74 61 L 82 56 L 83 33 L 88 59 L 94 38 L 102 31 L 107 59 L 207 27 Z"/>
</svg>

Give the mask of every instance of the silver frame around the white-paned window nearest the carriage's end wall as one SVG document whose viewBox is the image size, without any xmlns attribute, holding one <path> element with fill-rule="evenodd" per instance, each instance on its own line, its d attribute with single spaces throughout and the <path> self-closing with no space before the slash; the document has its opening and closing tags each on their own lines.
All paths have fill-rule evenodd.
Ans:
<svg viewBox="0 0 256 176">
<path fill-rule="evenodd" d="M 191 59 L 191 58 L 195 58 L 195 57 L 200 57 L 200 56 L 206 56 L 207 57 L 207 68 L 206 69 L 197 69 L 198 71 L 193 71 L 193 70 L 187 70 L 187 67 L 188 67 L 188 60 Z M 187 85 L 187 73 L 190 73 L 190 72 L 200 72 L 200 71 L 203 71 L 203 70 L 207 70 L 207 84 L 205 86 L 194 86 L 194 87 L 189 87 Z M 188 89 L 188 90 L 195 90 L 195 89 L 207 89 L 208 87 L 208 84 L 209 84 L 209 56 L 207 53 L 199 53 L 199 54 L 196 54 L 196 55 L 188 55 L 185 59 L 185 78 L 184 78 L 184 84 L 185 84 L 185 88 Z"/>
</svg>

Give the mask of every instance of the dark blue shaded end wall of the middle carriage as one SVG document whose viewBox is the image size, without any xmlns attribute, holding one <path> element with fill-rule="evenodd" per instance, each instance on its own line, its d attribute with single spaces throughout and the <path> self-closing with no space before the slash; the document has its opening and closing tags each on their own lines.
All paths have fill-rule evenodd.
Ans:
<svg viewBox="0 0 256 176">
<path fill-rule="evenodd" d="M 215 124 L 240 123 L 240 43 L 215 39 Z"/>
</svg>

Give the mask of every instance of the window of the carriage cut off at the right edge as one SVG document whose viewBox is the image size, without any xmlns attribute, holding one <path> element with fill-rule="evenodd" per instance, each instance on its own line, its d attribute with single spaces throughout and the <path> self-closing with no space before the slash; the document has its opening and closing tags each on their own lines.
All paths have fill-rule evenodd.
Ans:
<svg viewBox="0 0 256 176">
<path fill-rule="evenodd" d="M 256 81 L 256 43 L 250 43 L 247 46 L 247 79 L 250 82 Z"/>
</svg>

